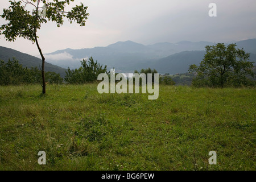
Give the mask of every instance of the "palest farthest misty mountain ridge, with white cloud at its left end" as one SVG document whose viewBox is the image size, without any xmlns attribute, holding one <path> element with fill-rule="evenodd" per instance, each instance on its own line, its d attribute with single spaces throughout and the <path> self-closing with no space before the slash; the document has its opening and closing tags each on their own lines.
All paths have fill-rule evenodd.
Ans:
<svg viewBox="0 0 256 182">
<path fill-rule="evenodd" d="M 133 71 L 137 64 L 157 60 L 181 51 L 204 50 L 209 42 L 158 43 L 149 46 L 126 41 L 110 44 L 107 47 L 85 49 L 64 49 L 46 54 L 49 63 L 71 69 L 80 67 L 82 59 L 92 56 L 100 64 L 108 65 L 117 71 Z"/>
</svg>

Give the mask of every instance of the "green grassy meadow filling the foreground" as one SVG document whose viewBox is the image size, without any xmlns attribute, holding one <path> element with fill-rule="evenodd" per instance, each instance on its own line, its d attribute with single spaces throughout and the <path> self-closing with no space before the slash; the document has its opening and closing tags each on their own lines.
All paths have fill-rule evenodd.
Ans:
<svg viewBox="0 0 256 182">
<path fill-rule="evenodd" d="M 96 84 L 41 90 L 0 86 L 1 170 L 256 169 L 253 88 L 160 85 L 158 100 Z"/>
</svg>

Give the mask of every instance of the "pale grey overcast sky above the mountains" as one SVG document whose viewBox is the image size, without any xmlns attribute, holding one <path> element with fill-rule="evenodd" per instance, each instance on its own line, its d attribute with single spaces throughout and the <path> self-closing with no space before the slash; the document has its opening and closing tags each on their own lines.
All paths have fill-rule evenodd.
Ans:
<svg viewBox="0 0 256 182">
<path fill-rule="evenodd" d="M 255 0 L 75 0 L 88 6 L 85 27 L 55 23 L 43 24 L 39 44 L 43 53 L 59 49 L 92 48 L 131 40 L 144 45 L 158 42 L 232 42 L 256 38 Z M 217 17 L 210 17 L 209 3 L 216 3 Z M 0 14 L 9 0 L 0 1 Z M 0 24 L 5 21 L 0 18 Z M 23 38 L 0 46 L 38 56 L 35 44 Z"/>
</svg>

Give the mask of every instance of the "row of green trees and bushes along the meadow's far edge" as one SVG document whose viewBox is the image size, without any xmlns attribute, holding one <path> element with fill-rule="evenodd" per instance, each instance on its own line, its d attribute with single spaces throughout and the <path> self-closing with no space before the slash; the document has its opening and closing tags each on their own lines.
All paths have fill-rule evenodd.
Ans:
<svg viewBox="0 0 256 182">
<path fill-rule="evenodd" d="M 236 44 L 218 43 L 215 46 L 206 46 L 206 53 L 200 65 L 191 65 L 189 74 L 194 75 L 192 86 L 202 87 L 220 87 L 224 86 L 255 86 L 254 79 L 254 62 L 248 61 L 250 54 L 237 49 Z M 100 73 L 106 73 L 107 66 L 103 66 L 98 61 L 94 61 L 93 57 L 89 60 L 82 60 L 81 67 L 78 69 L 68 68 L 65 75 L 67 84 L 86 84 L 97 81 Z M 152 81 L 154 82 L 154 73 L 158 73 L 155 69 L 141 69 L 140 72 L 134 73 L 152 73 Z M 53 84 L 61 84 L 63 78 L 55 72 L 46 72 L 46 82 Z M 42 84 L 42 71 L 37 67 L 23 68 L 15 58 L 7 63 L 0 60 L 0 85 L 19 85 L 19 84 Z M 146 81 L 147 82 L 147 81 Z M 159 84 L 175 85 L 175 81 L 170 75 L 165 74 L 159 77 Z"/>
</svg>

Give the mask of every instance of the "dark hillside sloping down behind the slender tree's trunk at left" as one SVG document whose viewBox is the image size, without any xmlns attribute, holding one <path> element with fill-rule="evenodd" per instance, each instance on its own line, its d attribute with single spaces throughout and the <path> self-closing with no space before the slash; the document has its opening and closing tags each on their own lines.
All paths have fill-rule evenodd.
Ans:
<svg viewBox="0 0 256 182">
<path fill-rule="evenodd" d="M 38 57 L 34 57 L 31 55 L 28 55 L 27 53 L 22 53 L 19 51 L 15 51 L 14 49 L 6 48 L 0 46 L 0 59 L 3 61 L 8 61 L 9 59 L 13 59 L 15 57 L 17 60 L 19 60 L 19 64 L 22 64 L 23 67 L 38 67 L 39 65 L 41 67 L 42 60 Z M 39 68 L 40 69 L 40 68 Z M 65 77 L 65 69 L 58 67 L 56 65 L 47 63 L 45 64 L 45 71 L 49 72 L 56 72 L 60 73 L 61 77 Z"/>
</svg>

